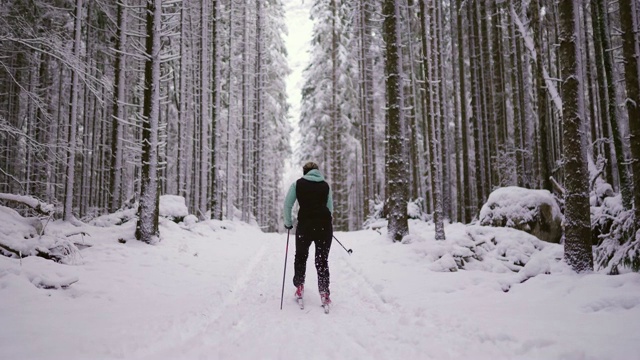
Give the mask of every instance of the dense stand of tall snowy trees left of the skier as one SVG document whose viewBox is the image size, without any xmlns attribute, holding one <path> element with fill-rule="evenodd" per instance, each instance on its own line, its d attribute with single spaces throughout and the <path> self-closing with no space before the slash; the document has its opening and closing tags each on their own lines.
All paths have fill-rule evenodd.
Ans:
<svg viewBox="0 0 640 360">
<path fill-rule="evenodd" d="M 201 217 L 239 210 L 276 230 L 290 152 L 283 19 L 279 0 L 6 1 L 0 192 L 82 219 L 135 202 L 155 218 L 157 196 L 179 194 Z"/>
</svg>

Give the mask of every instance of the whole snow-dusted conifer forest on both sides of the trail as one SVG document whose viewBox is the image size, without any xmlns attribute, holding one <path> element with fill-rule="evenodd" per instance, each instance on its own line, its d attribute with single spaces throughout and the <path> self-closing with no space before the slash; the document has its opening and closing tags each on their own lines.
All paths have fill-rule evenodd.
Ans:
<svg viewBox="0 0 640 360">
<path fill-rule="evenodd" d="M 496 189 L 544 189 L 575 270 L 640 268 L 637 0 L 307 1 L 291 119 L 282 0 L 3 0 L 0 199 L 135 207 L 150 243 L 164 194 L 274 232 L 291 157 L 335 230 L 401 241 L 411 216 L 443 240 Z"/>
</svg>

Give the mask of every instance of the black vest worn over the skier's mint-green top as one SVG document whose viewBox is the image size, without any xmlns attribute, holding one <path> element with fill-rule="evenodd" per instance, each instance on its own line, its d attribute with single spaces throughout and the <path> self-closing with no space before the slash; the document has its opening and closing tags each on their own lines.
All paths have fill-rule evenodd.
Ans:
<svg viewBox="0 0 640 360">
<path fill-rule="evenodd" d="M 298 222 L 301 224 L 330 224 L 331 211 L 327 208 L 329 184 L 326 181 L 309 181 L 304 178 L 296 182 L 296 199 L 300 204 Z"/>
</svg>

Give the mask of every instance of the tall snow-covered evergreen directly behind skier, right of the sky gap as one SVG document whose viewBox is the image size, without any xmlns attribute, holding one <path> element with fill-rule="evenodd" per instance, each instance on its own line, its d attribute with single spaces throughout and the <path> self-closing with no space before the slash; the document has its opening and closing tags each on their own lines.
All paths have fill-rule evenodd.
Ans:
<svg viewBox="0 0 640 360">
<path fill-rule="evenodd" d="M 335 229 L 347 230 L 349 224 L 348 169 L 355 160 L 353 134 L 359 113 L 356 73 L 348 57 L 351 46 L 352 9 L 349 2 L 317 0 L 311 13 L 314 20 L 311 60 L 305 71 L 300 131 L 300 162 L 318 162 L 331 183 Z"/>
</svg>

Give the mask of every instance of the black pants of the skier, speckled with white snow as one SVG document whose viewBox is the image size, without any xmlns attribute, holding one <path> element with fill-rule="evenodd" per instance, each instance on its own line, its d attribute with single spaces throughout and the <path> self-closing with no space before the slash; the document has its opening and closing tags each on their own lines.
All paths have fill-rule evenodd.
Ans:
<svg viewBox="0 0 640 360">
<path fill-rule="evenodd" d="M 333 229 L 331 224 L 303 225 L 296 229 L 296 257 L 294 262 L 293 285 L 304 285 L 307 258 L 311 243 L 316 246 L 316 270 L 318 271 L 318 290 L 329 294 L 329 250 Z"/>
</svg>

